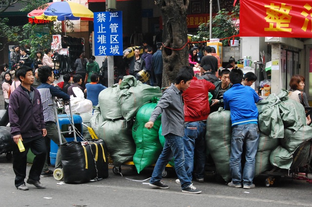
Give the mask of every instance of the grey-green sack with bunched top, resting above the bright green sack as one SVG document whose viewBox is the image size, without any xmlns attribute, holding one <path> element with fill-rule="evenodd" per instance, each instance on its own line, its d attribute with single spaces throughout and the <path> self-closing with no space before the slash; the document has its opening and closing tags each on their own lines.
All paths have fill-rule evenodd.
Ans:
<svg viewBox="0 0 312 207">
<path fill-rule="evenodd" d="M 149 103 L 153 97 L 160 98 L 162 95 L 159 87 L 142 84 L 132 75 L 124 76 L 119 88 L 121 91 L 118 102 L 121 114 L 126 121 L 132 120 L 137 110 Z"/>
</svg>

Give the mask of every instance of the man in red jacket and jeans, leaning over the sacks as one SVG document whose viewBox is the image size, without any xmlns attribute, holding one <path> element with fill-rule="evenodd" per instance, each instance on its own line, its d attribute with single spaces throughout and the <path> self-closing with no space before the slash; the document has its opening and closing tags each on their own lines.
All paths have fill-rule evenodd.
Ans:
<svg viewBox="0 0 312 207">
<path fill-rule="evenodd" d="M 192 67 L 185 69 L 194 76 Z M 184 100 L 184 167 L 190 180 L 194 170 L 194 154 L 196 155 L 195 178 L 204 182 L 206 157 L 206 121 L 210 113 L 208 92 L 214 91 L 215 85 L 205 79 L 193 77 L 190 86 L 182 93 Z M 179 180 L 176 180 L 179 183 Z"/>
</svg>

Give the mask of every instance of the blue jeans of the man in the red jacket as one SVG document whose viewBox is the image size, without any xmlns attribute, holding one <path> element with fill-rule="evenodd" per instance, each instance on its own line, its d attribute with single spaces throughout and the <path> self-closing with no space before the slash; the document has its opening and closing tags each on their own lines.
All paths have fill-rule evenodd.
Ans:
<svg viewBox="0 0 312 207">
<path fill-rule="evenodd" d="M 184 157 L 185 170 L 190 180 L 194 170 L 194 154 L 196 156 L 195 177 L 204 178 L 206 161 L 206 121 L 192 121 L 185 124 Z"/>
</svg>

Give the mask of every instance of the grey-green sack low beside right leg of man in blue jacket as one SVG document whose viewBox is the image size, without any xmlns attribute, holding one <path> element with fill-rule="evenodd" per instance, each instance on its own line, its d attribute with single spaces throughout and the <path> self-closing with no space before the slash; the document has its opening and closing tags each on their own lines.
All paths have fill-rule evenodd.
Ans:
<svg viewBox="0 0 312 207">
<path fill-rule="evenodd" d="M 260 131 L 258 149 L 255 155 L 254 176 L 258 176 L 264 171 L 272 169 L 270 153 L 279 145 L 279 140 L 280 139 L 270 138 Z"/>
</svg>

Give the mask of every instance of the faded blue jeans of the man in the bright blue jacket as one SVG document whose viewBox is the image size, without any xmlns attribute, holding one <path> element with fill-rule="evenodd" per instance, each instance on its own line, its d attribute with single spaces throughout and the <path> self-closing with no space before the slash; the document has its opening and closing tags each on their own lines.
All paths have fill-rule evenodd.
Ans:
<svg viewBox="0 0 312 207">
<path fill-rule="evenodd" d="M 253 183 L 255 154 L 257 153 L 258 141 L 259 130 L 257 124 L 250 123 L 233 126 L 230 171 L 232 174 L 232 181 L 235 185 L 241 185 L 243 183 L 245 186 L 250 186 Z M 246 152 L 246 163 L 242 176 L 241 156 L 243 153 L 243 146 Z"/>
</svg>

